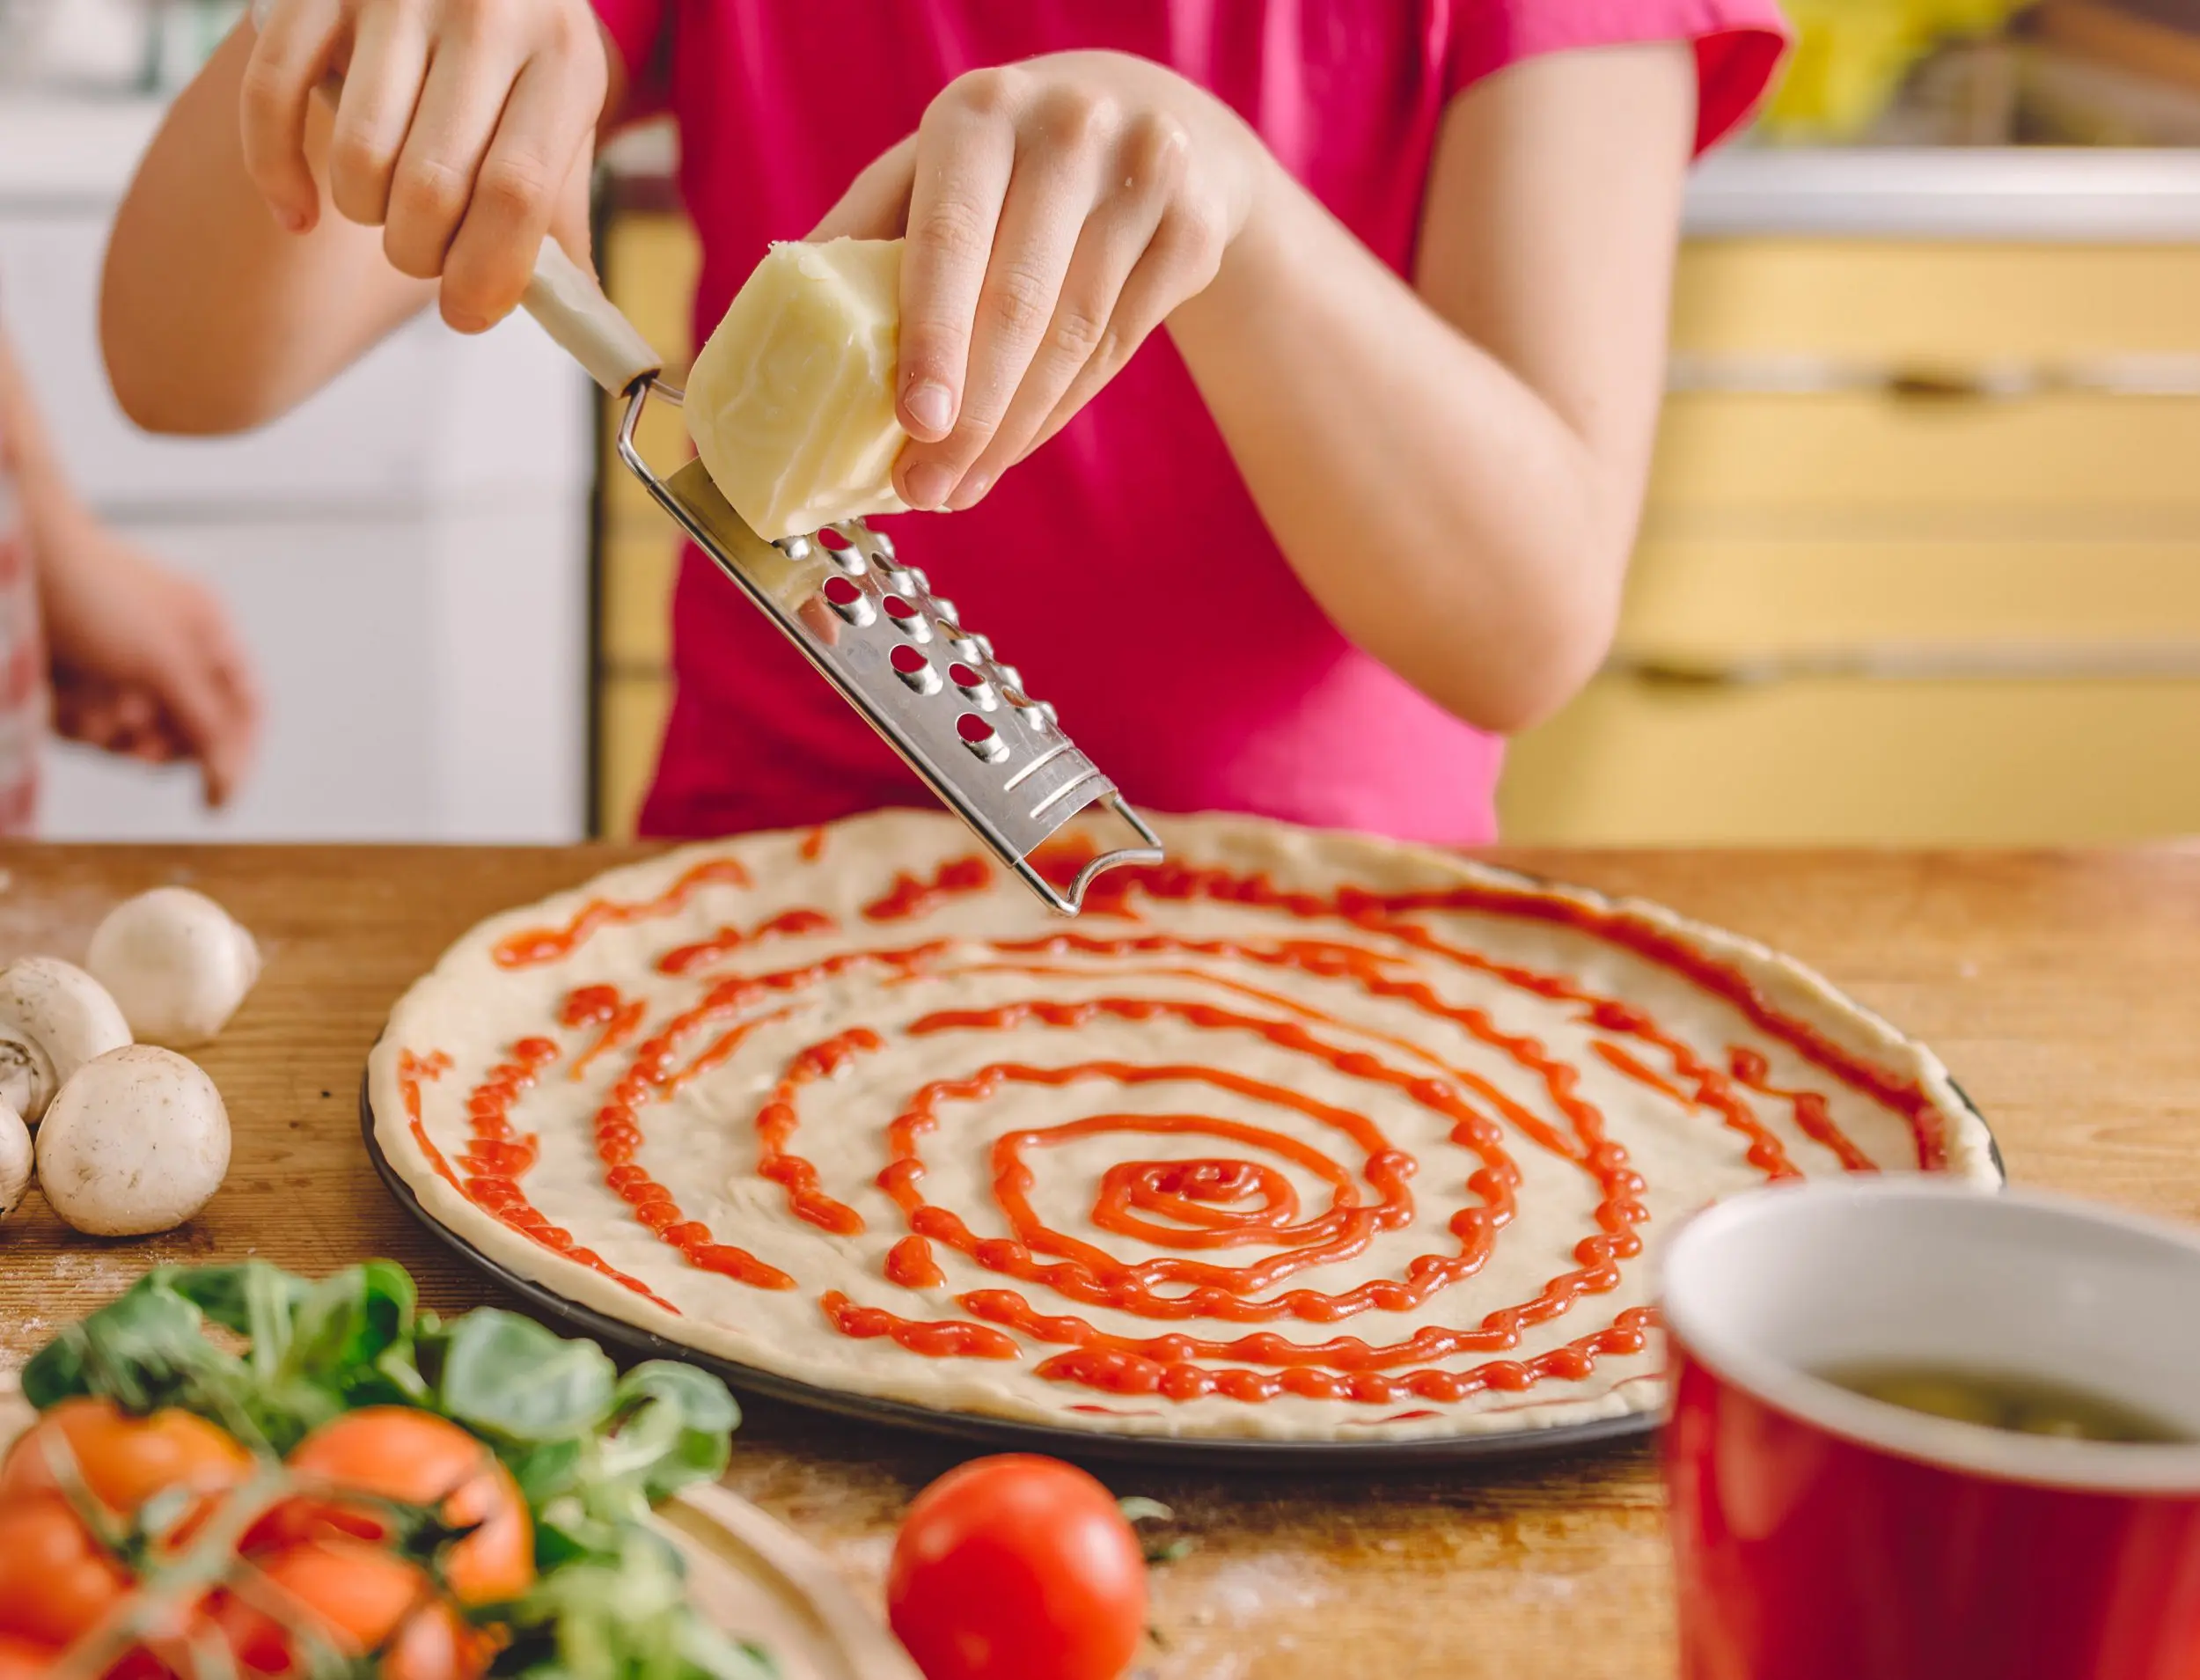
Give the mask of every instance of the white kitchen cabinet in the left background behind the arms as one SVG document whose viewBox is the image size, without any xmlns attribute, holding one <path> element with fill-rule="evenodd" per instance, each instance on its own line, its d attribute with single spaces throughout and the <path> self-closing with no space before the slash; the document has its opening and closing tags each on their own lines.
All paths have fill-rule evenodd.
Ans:
<svg viewBox="0 0 2200 1680">
<path fill-rule="evenodd" d="M 62 748 L 44 833 L 579 838 L 592 490 L 579 369 L 526 319 L 482 339 L 422 319 L 260 433 L 147 438 L 108 394 L 95 325 L 143 112 L 59 125 L 81 147 L 51 167 L 9 152 L 11 119 L 33 125 L 0 108 L 0 312 L 18 354 L 88 499 L 220 589 L 268 699 L 233 809 L 202 814 L 183 772 Z M 103 163 L 88 161 L 99 143 Z"/>
</svg>

